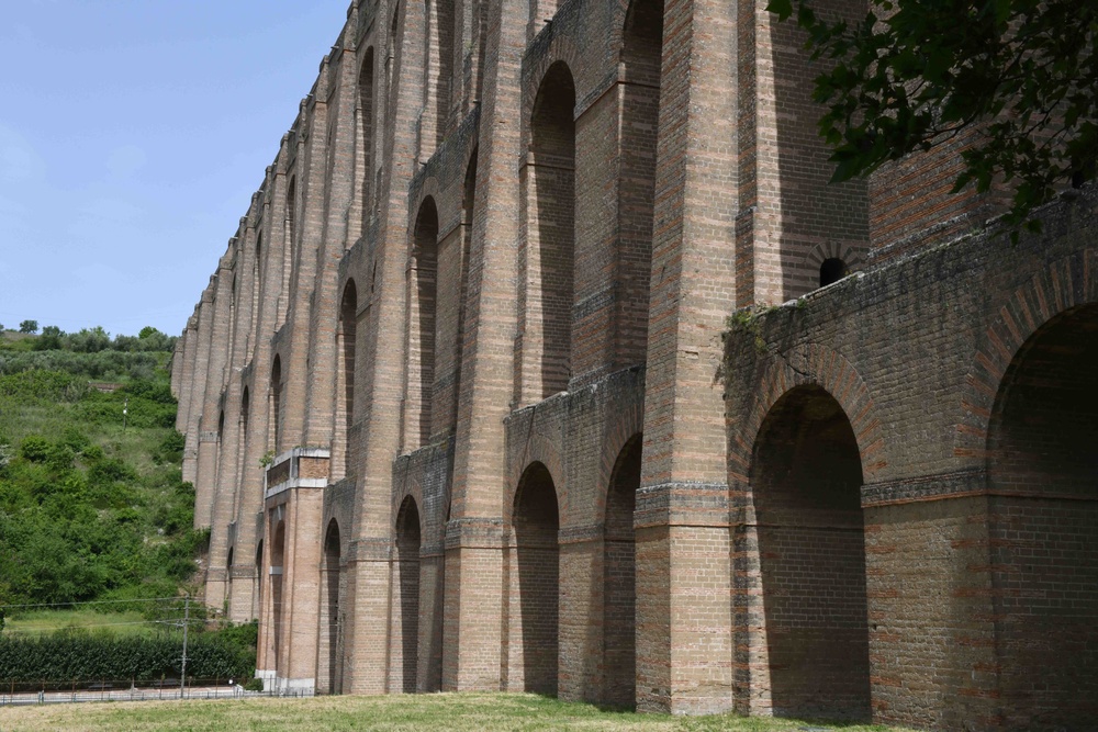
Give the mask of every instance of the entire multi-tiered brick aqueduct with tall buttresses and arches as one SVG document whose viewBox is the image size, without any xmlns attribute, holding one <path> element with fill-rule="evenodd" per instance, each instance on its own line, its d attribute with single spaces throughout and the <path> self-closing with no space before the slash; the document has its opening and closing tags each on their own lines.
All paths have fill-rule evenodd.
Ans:
<svg viewBox="0 0 1098 732">
<path fill-rule="evenodd" d="M 829 185 L 765 4 L 352 2 L 172 370 L 269 684 L 1095 729 L 1096 196 Z"/>
</svg>

